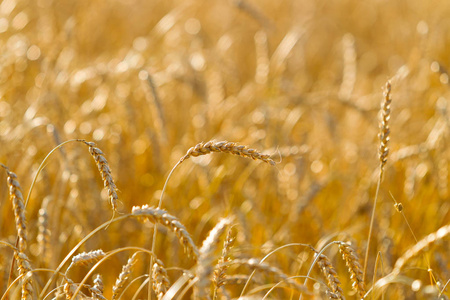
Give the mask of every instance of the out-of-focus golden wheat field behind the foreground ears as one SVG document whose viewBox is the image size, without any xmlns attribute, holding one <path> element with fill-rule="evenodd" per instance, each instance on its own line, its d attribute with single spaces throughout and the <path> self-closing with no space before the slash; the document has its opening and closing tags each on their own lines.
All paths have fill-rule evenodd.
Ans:
<svg viewBox="0 0 450 300">
<path fill-rule="evenodd" d="M 163 207 L 197 245 L 233 215 L 235 257 L 338 239 L 351 241 L 363 258 L 379 167 L 378 111 L 391 80 L 390 156 L 369 256 L 371 278 L 380 251 L 380 277 L 415 244 L 392 197 L 419 239 L 450 221 L 449 16 L 445 1 L 3 0 L 0 162 L 17 173 L 27 195 L 52 148 L 74 138 L 93 141 L 112 169 L 119 211 L 127 213 L 133 205 L 157 205 L 168 172 L 190 147 L 239 142 L 279 163 L 212 154 L 184 162 L 169 181 Z M 0 234 L 14 243 L 4 172 L 0 179 Z M 108 221 L 106 200 L 88 148 L 70 143 L 57 151 L 26 210 L 33 267 L 55 269 Z M 38 238 L 40 209 L 48 216 L 46 242 Z M 151 232 L 127 220 L 83 251 L 150 247 Z M 429 256 L 441 284 L 450 277 L 443 243 Z M 306 261 L 302 251 L 308 253 L 283 250 L 270 263 L 305 275 L 311 253 Z M 336 251 L 327 255 L 348 297 L 356 297 Z M 99 269 L 106 286 L 128 254 L 111 260 L 114 272 Z M 159 235 L 156 254 L 166 267 L 192 267 L 170 233 Z M 11 257 L 0 248 L 2 293 Z M 148 257 L 141 262 L 136 274 L 145 273 Z M 425 260 L 413 266 L 405 276 L 430 285 Z M 75 281 L 87 271 L 72 272 Z M 169 271 L 172 280 L 179 275 Z M 38 276 L 42 284 L 49 275 Z M 230 291 L 237 296 L 241 288 Z M 408 284 L 387 291 L 391 299 L 429 296 Z M 275 299 L 285 296 L 277 293 Z"/>
</svg>

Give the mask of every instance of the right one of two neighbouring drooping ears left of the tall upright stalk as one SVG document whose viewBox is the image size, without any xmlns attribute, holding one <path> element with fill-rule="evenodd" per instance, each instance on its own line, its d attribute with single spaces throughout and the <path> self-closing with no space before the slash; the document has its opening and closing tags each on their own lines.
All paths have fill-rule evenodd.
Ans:
<svg viewBox="0 0 450 300">
<path fill-rule="evenodd" d="M 363 280 L 363 271 L 359 264 L 359 257 L 356 254 L 356 251 L 346 243 L 339 244 L 339 251 L 350 272 L 350 280 L 353 282 L 352 287 L 359 294 L 361 299 L 363 299 L 366 294 L 366 287 Z"/>
</svg>

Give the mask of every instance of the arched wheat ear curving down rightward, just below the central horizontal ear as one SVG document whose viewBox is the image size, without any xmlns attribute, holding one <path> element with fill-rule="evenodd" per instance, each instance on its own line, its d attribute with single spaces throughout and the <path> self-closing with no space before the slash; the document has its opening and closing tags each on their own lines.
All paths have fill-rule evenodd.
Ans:
<svg viewBox="0 0 450 300">
<path fill-rule="evenodd" d="M 186 230 L 186 227 L 184 227 L 176 217 L 170 215 L 163 209 L 150 207 L 148 205 L 134 206 L 132 208 L 132 215 L 168 227 L 178 237 L 185 252 L 192 256 L 194 260 L 197 260 L 199 256 L 198 248 L 192 241 L 191 235 Z"/>
</svg>

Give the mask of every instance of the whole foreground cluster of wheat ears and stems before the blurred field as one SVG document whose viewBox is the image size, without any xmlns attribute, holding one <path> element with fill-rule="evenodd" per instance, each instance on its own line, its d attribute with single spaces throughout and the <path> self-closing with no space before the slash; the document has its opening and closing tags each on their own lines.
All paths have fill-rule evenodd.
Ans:
<svg viewBox="0 0 450 300">
<path fill-rule="evenodd" d="M 365 263 L 364 268 L 360 264 L 360 259 L 356 253 L 356 250 L 351 246 L 350 243 L 346 241 L 333 241 L 325 245 L 320 251 L 315 249 L 312 245 L 302 245 L 305 248 L 309 248 L 311 252 L 314 254 L 314 260 L 311 263 L 310 271 L 313 267 L 317 267 L 322 272 L 323 276 L 326 278 L 326 284 L 324 284 L 323 288 L 326 292 L 326 295 L 330 299 L 345 299 L 344 291 L 339 280 L 338 273 L 333 267 L 330 259 L 323 254 L 324 250 L 331 246 L 336 246 L 339 249 L 339 252 L 342 254 L 342 259 L 345 261 L 345 264 L 348 268 L 350 276 L 350 280 L 352 282 L 352 287 L 356 292 L 356 295 L 363 299 L 366 297 L 370 297 L 369 295 L 374 294 L 377 291 L 377 288 L 380 289 L 380 285 L 383 285 L 383 282 L 386 280 L 393 280 L 396 276 L 399 276 L 402 269 L 405 267 L 408 260 L 413 257 L 419 256 L 423 254 L 427 248 L 442 239 L 444 239 L 448 234 L 450 234 L 450 225 L 446 225 L 440 229 L 438 229 L 435 233 L 432 233 L 426 236 L 423 240 L 417 242 L 410 250 L 404 253 L 403 256 L 397 259 L 395 266 L 392 272 L 386 275 L 384 278 L 378 280 L 378 282 L 374 282 L 373 286 L 370 289 L 366 288 L 365 285 L 365 277 L 367 270 L 367 262 L 368 262 L 368 253 L 369 253 L 369 245 L 370 238 L 372 235 L 373 229 L 373 221 L 375 216 L 375 209 L 377 204 L 378 191 L 380 188 L 381 181 L 383 179 L 383 172 L 386 162 L 388 160 L 389 154 L 389 119 L 390 119 L 390 105 L 391 105 L 391 83 L 387 82 L 384 92 L 384 100 L 381 106 L 381 122 L 380 122 L 380 148 L 379 148 L 379 158 L 380 158 L 380 174 L 378 178 L 378 186 L 376 189 L 375 200 L 372 208 L 372 217 L 370 222 L 370 230 L 368 234 L 368 243 L 366 249 Z M 80 142 L 89 147 L 89 153 L 94 159 L 100 175 L 102 177 L 104 187 L 108 192 L 108 203 L 111 206 L 113 213 L 118 212 L 118 201 L 119 196 L 117 194 L 117 187 L 114 183 L 113 176 L 111 174 L 111 169 L 109 167 L 108 161 L 105 158 L 104 153 L 100 150 L 95 143 L 87 142 L 85 140 L 77 139 L 70 140 L 61 143 L 57 147 L 55 147 L 42 162 L 41 167 L 38 169 L 37 174 L 35 175 L 35 179 L 39 175 L 39 172 L 45 166 L 45 163 L 50 158 L 51 154 L 55 152 L 57 149 L 62 147 L 63 145 L 69 142 Z M 197 157 L 202 155 L 207 155 L 212 152 L 221 152 L 228 153 L 237 156 L 242 156 L 246 158 L 251 158 L 253 160 L 263 161 L 271 166 L 276 166 L 275 161 L 268 154 L 262 154 L 260 151 L 256 149 L 249 148 L 244 145 L 239 145 L 234 142 L 227 141 L 210 141 L 207 143 L 199 143 L 194 147 L 190 148 L 187 153 L 181 157 L 175 167 L 172 169 L 170 175 L 173 173 L 175 168 L 180 165 L 182 162 L 186 161 L 190 157 Z M 93 274 L 96 268 L 104 263 L 109 257 L 126 250 L 135 250 L 135 252 L 130 256 L 127 263 L 122 267 L 122 272 L 117 275 L 117 280 L 112 287 L 112 299 L 119 299 L 122 296 L 122 292 L 127 286 L 127 281 L 129 279 L 130 273 L 132 272 L 133 266 L 137 263 L 138 258 L 137 254 L 139 252 L 143 252 L 148 254 L 151 257 L 149 273 L 147 274 L 147 279 L 145 283 L 148 283 L 149 286 L 149 296 L 150 287 L 155 293 L 158 299 L 172 299 L 175 295 L 177 297 L 183 297 L 188 290 L 192 289 L 192 294 L 195 299 L 218 299 L 220 294 L 223 294 L 225 297 L 227 296 L 227 285 L 245 283 L 241 292 L 242 299 L 246 298 L 245 291 L 248 284 L 253 280 L 253 274 L 255 271 L 273 274 L 279 281 L 276 285 L 274 285 L 264 296 L 263 299 L 269 297 L 270 292 L 279 285 L 285 285 L 288 288 L 296 291 L 296 293 L 300 294 L 300 298 L 311 296 L 313 292 L 308 288 L 307 281 L 317 279 L 312 278 L 308 272 L 306 275 L 301 276 L 293 276 L 289 277 L 284 274 L 280 269 L 271 266 L 265 262 L 265 260 L 274 252 L 278 251 L 281 248 L 275 249 L 270 254 L 265 256 L 263 259 L 250 258 L 250 259 L 238 259 L 233 258 L 230 250 L 234 246 L 235 243 L 235 235 L 236 233 L 233 230 L 233 217 L 228 216 L 221 219 L 215 227 L 209 232 L 209 235 L 203 241 L 201 247 L 197 246 L 191 234 L 188 232 L 186 227 L 180 222 L 180 220 L 171 215 L 169 212 L 162 208 L 162 200 L 164 196 L 164 189 L 167 185 L 169 178 L 166 180 L 166 184 L 161 193 L 159 204 L 157 207 L 151 207 L 149 205 L 142 206 L 134 206 L 129 213 L 122 212 L 122 215 L 118 218 L 113 218 L 107 223 L 99 226 L 97 229 L 88 234 L 76 247 L 74 247 L 70 253 L 66 256 L 66 258 L 61 262 L 56 270 L 48 270 L 48 269 L 34 269 L 32 267 L 32 262 L 27 256 L 27 225 L 25 218 L 25 209 L 27 206 L 27 201 L 24 200 L 22 195 L 22 189 L 19 184 L 17 175 L 13 173 L 9 168 L 3 164 L 1 166 L 7 173 L 7 185 L 9 187 L 9 194 L 11 203 L 14 210 L 15 216 L 15 226 L 17 229 L 17 242 L 16 244 L 10 244 L 8 242 L 2 241 L 1 244 L 3 246 L 11 248 L 14 252 L 14 259 L 11 262 L 11 268 L 13 269 L 14 264 L 16 263 L 18 266 L 18 276 L 14 276 L 13 272 L 11 272 L 12 281 L 9 282 L 9 286 L 3 295 L 3 297 L 8 297 L 8 293 L 16 289 L 16 286 L 21 286 L 21 298 L 22 299 L 35 299 L 38 294 L 40 299 L 45 299 L 51 297 L 52 294 L 55 294 L 55 299 L 106 299 L 103 295 L 105 287 L 102 282 L 101 275 L 96 275 L 95 279 L 93 279 L 92 284 L 87 283 L 91 274 Z M 34 182 L 33 182 L 34 184 Z M 32 185 L 33 187 L 33 185 Z M 31 189 L 32 189 L 31 187 Z M 31 189 L 29 194 L 31 193 Z M 28 200 L 29 198 L 27 198 Z M 394 200 L 394 207 L 397 211 L 403 214 L 402 204 L 397 203 Z M 45 215 L 45 211 L 41 212 L 42 215 Z M 404 216 L 404 215 L 403 215 Z M 150 221 L 154 224 L 154 233 L 153 233 L 153 243 L 152 249 L 143 249 L 138 247 L 126 247 L 111 250 L 109 252 L 104 252 L 101 249 L 91 250 L 89 252 L 82 252 L 77 255 L 74 255 L 77 250 L 89 239 L 93 236 L 95 232 L 97 232 L 101 228 L 108 227 L 113 222 L 120 222 L 125 218 L 137 218 L 142 222 Z M 42 218 L 42 223 L 44 223 L 44 217 Z M 405 217 L 405 221 L 407 219 Z M 188 255 L 188 257 L 195 262 L 194 266 L 189 270 L 184 270 L 183 275 L 173 284 L 170 283 L 169 277 L 167 275 L 167 270 L 165 269 L 164 262 L 161 261 L 155 255 L 155 241 L 156 241 L 156 233 L 157 228 L 159 226 L 163 226 L 167 228 L 168 231 L 172 232 L 178 238 L 180 244 L 182 245 L 184 252 Z M 41 224 L 40 226 L 43 229 L 40 232 L 40 238 L 42 241 L 46 239 L 45 235 L 48 234 L 45 229 L 45 225 Z M 221 245 L 221 238 L 226 234 L 223 245 Z M 221 255 L 220 257 L 216 257 L 214 251 L 216 248 L 221 247 Z M 170 250 L 168 250 L 170 251 Z M 71 261 L 70 264 L 63 271 L 66 263 Z M 81 280 L 81 282 L 75 283 L 70 279 L 70 269 L 79 266 L 79 265 L 92 265 L 95 264 L 86 276 Z M 251 275 L 237 274 L 237 275 L 229 275 L 227 274 L 227 269 L 230 265 L 246 265 L 253 269 L 253 273 Z M 431 267 L 428 268 L 430 272 L 430 277 L 433 277 Z M 41 287 L 38 281 L 35 279 L 35 276 L 39 272 L 51 272 L 51 278 L 45 283 L 44 287 Z M 299 283 L 297 280 L 303 279 L 303 283 Z M 51 289 L 52 283 L 54 281 L 59 282 L 56 285 L 56 288 Z M 448 282 L 447 282 L 448 283 Z M 142 285 L 144 286 L 144 285 Z M 142 287 L 141 286 L 141 287 Z M 439 296 L 442 296 L 446 286 L 442 288 Z M 89 291 L 90 296 L 86 295 L 83 291 Z M 303 296 L 304 295 L 304 296 Z"/>
</svg>

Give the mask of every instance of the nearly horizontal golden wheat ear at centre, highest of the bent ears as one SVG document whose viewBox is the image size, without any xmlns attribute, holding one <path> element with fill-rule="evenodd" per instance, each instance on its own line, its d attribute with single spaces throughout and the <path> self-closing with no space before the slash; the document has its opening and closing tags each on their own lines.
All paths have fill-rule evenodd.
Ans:
<svg viewBox="0 0 450 300">
<path fill-rule="evenodd" d="M 233 142 L 227 142 L 227 141 L 221 141 L 221 142 L 214 142 L 209 141 L 207 143 L 199 143 L 195 145 L 194 147 L 190 148 L 185 156 L 183 156 L 180 159 L 180 163 L 185 161 L 191 156 L 200 156 L 200 155 L 206 155 L 211 152 L 224 152 L 224 153 L 230 153 L 242 157 L 249 157 L 254 160 L 262 160 L 265 163 L 268 163 L 272 166 L 275 165 L 275 162 L 270 158 L 270 155 L 268 154 L 262 154 L 258 150 L 248 148 L 244 145 L 238 145 L 237 143 Z"/>
</svg>

